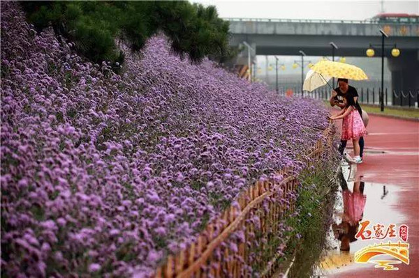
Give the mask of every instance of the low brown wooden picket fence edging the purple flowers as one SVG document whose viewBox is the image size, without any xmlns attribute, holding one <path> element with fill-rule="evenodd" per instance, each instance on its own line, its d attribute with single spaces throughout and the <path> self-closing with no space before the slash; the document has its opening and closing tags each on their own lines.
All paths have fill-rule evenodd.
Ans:
<svg viewBox="0 0 419 278">
<path fill-rule="evenodd" d="M 334 131 L 332 125 L 324 130 L 325 139 L 319 140 L 308 150 L 311 158 L 306 164 L 314 165 L 322 155 L 332 148 Z M 277 256 L 269 263 L 252 258 L 255 247 L 267 247 L 279 229 L 279 222 L 285 213 L 294 210 L 295 202 L 280 202 L 295 192 L 299 182 L 292 169 L 282 169 L 284 176 L 279 183 L 270 180 L 258 182 L 242 192 L 237 199 L 239 206 L 230 206 L 219 217 L 207 225 L 190 246 L 175 256 L 168 256 L 166 262 L 155 272 L 154 277 L 251 277 L 244 265 L 264 263 L 262 277 L 270 277 L 277 268 Z M 265 207 L 265 209 L 264 209 Z M 266 210 L 266 208 L 268 208 Z M 260 222 L 253 223 L 251 217 L 258 216 Z M 231 238 L 236 231 L 244 233 L 244 240 Z M 256 236 L 256 233 L 259 236 Z M 253 242 L 251 246 L 246 242 Z M 231 248 L 233 243 L 235 248 Z"/>
</svg>

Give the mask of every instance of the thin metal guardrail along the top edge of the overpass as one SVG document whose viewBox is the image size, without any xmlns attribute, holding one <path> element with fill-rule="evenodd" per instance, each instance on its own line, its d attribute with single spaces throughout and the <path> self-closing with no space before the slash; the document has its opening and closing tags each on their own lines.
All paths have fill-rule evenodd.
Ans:
<svg viewBox="0 0 419 278">
<path fill-rule="evenodd" d="M 384 22 L 378 20 L 291 20 L 277 18 L 251 18 L 251 17 L 224 17 L 223 20 L 230 22 L 291 22 L 291 23 L 343 23 L 343 24 L 386 24 L 386 25 L 419 25 L 419 22 Z"/>
</svg>

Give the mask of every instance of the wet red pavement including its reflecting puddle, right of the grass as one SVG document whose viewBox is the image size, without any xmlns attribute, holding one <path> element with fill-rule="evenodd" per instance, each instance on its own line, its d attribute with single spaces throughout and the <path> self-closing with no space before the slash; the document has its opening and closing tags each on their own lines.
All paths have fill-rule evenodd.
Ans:
<svg viewBox="0 0 419 278">
<path fill-rule="evenodd" d="M 367 130 L 364 163 L 351 168 L 348 165 L 342 167 L 344 183 L 335 204 L 334 224 L 328 233 L 328 249 L 315 275 L 419 277 L 419 123 L 370 116 Z M 349 153 L 351 145 L 348 142 Z M 373 239 L 355 237 L 366 220 L 370 222 L 366 230 L 372 231 Z M 383 234 L 390 231 L 386 238 L 377 234 L 383 239 L 374 239 L 376 230 L 373 227 L 377 224 L 383 225 Z M 395 236 L 392 237 L 391 224 L 395 225 Z M 409 226 L 406 242 L 399 237 L 399 226 L 402 224 Z M 367 235 L 365 232 L 362 234 Z M 389 241 L 409 243 L 409 249 L 385 247 L 401 253 L 403 258 L 409 257 L 409 265 L 396 260 L 396 263 L 390 262 L 392 267 L 388 267 L 392 271 L 385 271 L 383 267 L 374 268 L 380 263 L 371 261 L 395 261 L 393 256 L 383 254 L 369 258 L 369 263 L 355 263 L 356 252 L 369 245 L 386 245 Z"/>
</svg>

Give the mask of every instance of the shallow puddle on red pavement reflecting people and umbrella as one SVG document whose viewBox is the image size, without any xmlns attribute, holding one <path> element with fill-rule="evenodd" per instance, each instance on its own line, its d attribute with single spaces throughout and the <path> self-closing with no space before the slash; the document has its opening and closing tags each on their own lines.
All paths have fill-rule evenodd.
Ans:
<svg viewBox="0 0 419 278">
<path fill-rule="evenodd" d="M 373 226 L 382 224 L 386 232 L 390 224 L 404 224 L 406 217 L 399 213 L 397 206 L 397 192 L 401 191 L 397 185 L 383 185 L 381 183 L 366 183 L 355 180 L 356 164 L 342 164 L 341 186 L 337 193 L 334 206 L 333 224 L 330 226 L 326 249 L 319 266 L 314 270 L 314 277 L 337 275 L 342 272 L 361 268 L 374 268 L 372 263 L 355 263 L 355 252 L 368 245 L 398 242 L 399 238 L 385 238 L 384 240 L 362 240 L 355 238 L 360 222 L 368 220 L 367 229 L 373 231 Z M 345 205 L 345 208 L 344 208 Z M 398 231 L 396 231 L 397 235 Z M 377 256 L 379 259 L 388 259 L 390 256 Z M 397 266 L 397 265 L 395 265 Z M 376 269 L 382 271 L 382 268 Z"/>
</svg>

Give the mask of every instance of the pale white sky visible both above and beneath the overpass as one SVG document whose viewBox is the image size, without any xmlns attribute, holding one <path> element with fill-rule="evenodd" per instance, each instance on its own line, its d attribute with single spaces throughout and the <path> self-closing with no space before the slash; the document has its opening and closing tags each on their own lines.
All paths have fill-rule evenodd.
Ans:
<svg viewBox="0 0 419 278">
<path fill-rule="evenodd" d="M 308 20 L 366 20 L 381 13 L 381 4 L 385 13 L 419 14 L 419 0 L 393 0 L 393 1 L 344 1 L 344 0 L 260 0 L 260 1 L 208 1 L 190 0 L 193 3 L 202 3 L 204 6 L 216 6 L 219 17 L 240 18 L 276 18 L 276 19 L 308 19 Z M 265 76 L 266 56 L 257 56 L 260 76 Z M 274 56 L 268 56 L 268 63 L 274 64 Z M 331 57 L 329 57 L 331 59 Z M 295 60 L 300 61 L 300 56 L 279 56 L 279 62 L 286 65 L 286 70 L 281 71 L 288 75 L 300 74 L 301 68 L 293 69 Z M 321 57 L 307 56 L 305 61 L 316 63 Z M 339 56 L 336 57 L 336 61 Z M 362 66 L 367 70 L 367 75 L 377 75 L 381 72 L 381 60 L 377 58 L 346 57 L 346 63 Z M 387 68 L 387 67 L 386 67 Z M 305 72 L 309 69 L 306 68 Z M 375 73 L 374 73 L 375 72 Z M 272 72 L 269 72 L 271 75 Z M 258 74 L 259 75 L 259 74 Z M 390 79 L 390 72 L 385 70 L 385 78 Z"/>
</svg>

